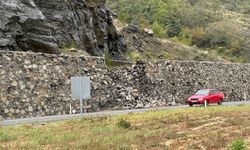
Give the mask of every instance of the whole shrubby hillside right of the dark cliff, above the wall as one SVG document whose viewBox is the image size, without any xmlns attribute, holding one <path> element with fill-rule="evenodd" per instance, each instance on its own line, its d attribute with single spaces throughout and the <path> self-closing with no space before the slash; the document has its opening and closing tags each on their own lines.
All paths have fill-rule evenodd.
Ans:
<svg viewBox="0 0 250 150">
<path fill-rule="evenodd" d="M 128 56 L 250 62 L 248 0 L 108 0 L 108 6 L 124 26 L 151 28 L 160 38 L 143 52 L 128 41 Z M 133 36 L 125 33 L 126 40 Z"/>
</svg>

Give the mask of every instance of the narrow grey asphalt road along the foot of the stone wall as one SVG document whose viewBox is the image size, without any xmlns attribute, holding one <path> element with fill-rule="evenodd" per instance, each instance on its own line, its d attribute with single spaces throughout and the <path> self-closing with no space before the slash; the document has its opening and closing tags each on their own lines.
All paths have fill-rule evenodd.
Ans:
<svg viewBox="0 0 250 150">
<path fill-rule="evenodd" d="M 237 106 L 250 104 L 250 101 L 242 101 L 242 102 L 225 102 L 223 106 Z M 189 108 L 187 105 L 181 106 L 168 106 L 168 107 L 159 107 L 159 108 L 149 108 L 149 109 L 131 109 L 131 110 L 119 110 L 119 111 L 103 111 L 103 112 L 94 112 L 94 113 L 86 113 L 86 114 L 74 114 L 74 115 L 60 115 L 60 116 L 47 116 L 47 117 L 37 117 L 37 118 L 25 118 L 25 119 L 15 119 L 15 120 L 3 120 L 0 122 L 0 125 L 8 126 L 8 125 L 18 125 L 18 124 L 43 124 L 52 121 L 62 121 L 62 120 L 70 120 L 74 118 L 93 118 L 93 117 L 107 117 L 114 116 L 120 114 L 128 114 L 128 113 L 142 113 L 153 110 L 171 110 L 171 109 L 180 109 L 180 108 Z"/>
</svg>

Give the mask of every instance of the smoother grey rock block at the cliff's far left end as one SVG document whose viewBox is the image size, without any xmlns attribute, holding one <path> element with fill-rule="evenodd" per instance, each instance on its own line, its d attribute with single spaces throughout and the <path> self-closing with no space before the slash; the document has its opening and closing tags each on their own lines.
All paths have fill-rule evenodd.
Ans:
<svg viewBox="0 0 250 150">
<path fill-rule="evenodd" d="M 58 53 L 46 18 L 32 0 L 0 1 L 0 48 Z"/>
</svg>

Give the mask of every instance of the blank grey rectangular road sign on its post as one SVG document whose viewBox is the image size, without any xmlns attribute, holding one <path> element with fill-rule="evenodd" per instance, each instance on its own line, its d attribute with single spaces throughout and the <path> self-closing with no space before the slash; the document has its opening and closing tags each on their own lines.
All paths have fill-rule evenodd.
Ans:
<svg viewBox="0 0 250 150">
<path fill-rule="evenodd" d="M 80 100 L 80 111 L 83 114 L 83 100 L 87 107 L 87 99 L 91 98 L 90 78 L 89 77 L 71 77 L 71 96 L 73 99 Z M 85 109 L 85 113 L 87 109 Z"/>
</svg>

